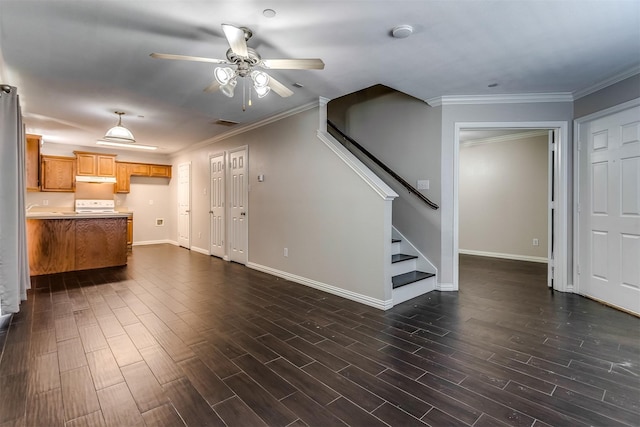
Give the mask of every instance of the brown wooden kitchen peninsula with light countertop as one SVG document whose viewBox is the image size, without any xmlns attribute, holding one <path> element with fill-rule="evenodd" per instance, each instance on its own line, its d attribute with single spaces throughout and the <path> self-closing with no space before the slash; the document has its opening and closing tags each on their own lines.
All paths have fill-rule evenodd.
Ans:
<svg viewBox="0 0 640 427">
<path fill-rule="evenodd" d="M 127 264 L 127 213 L 27 213 L 31 276 Z"/>
</svg>

